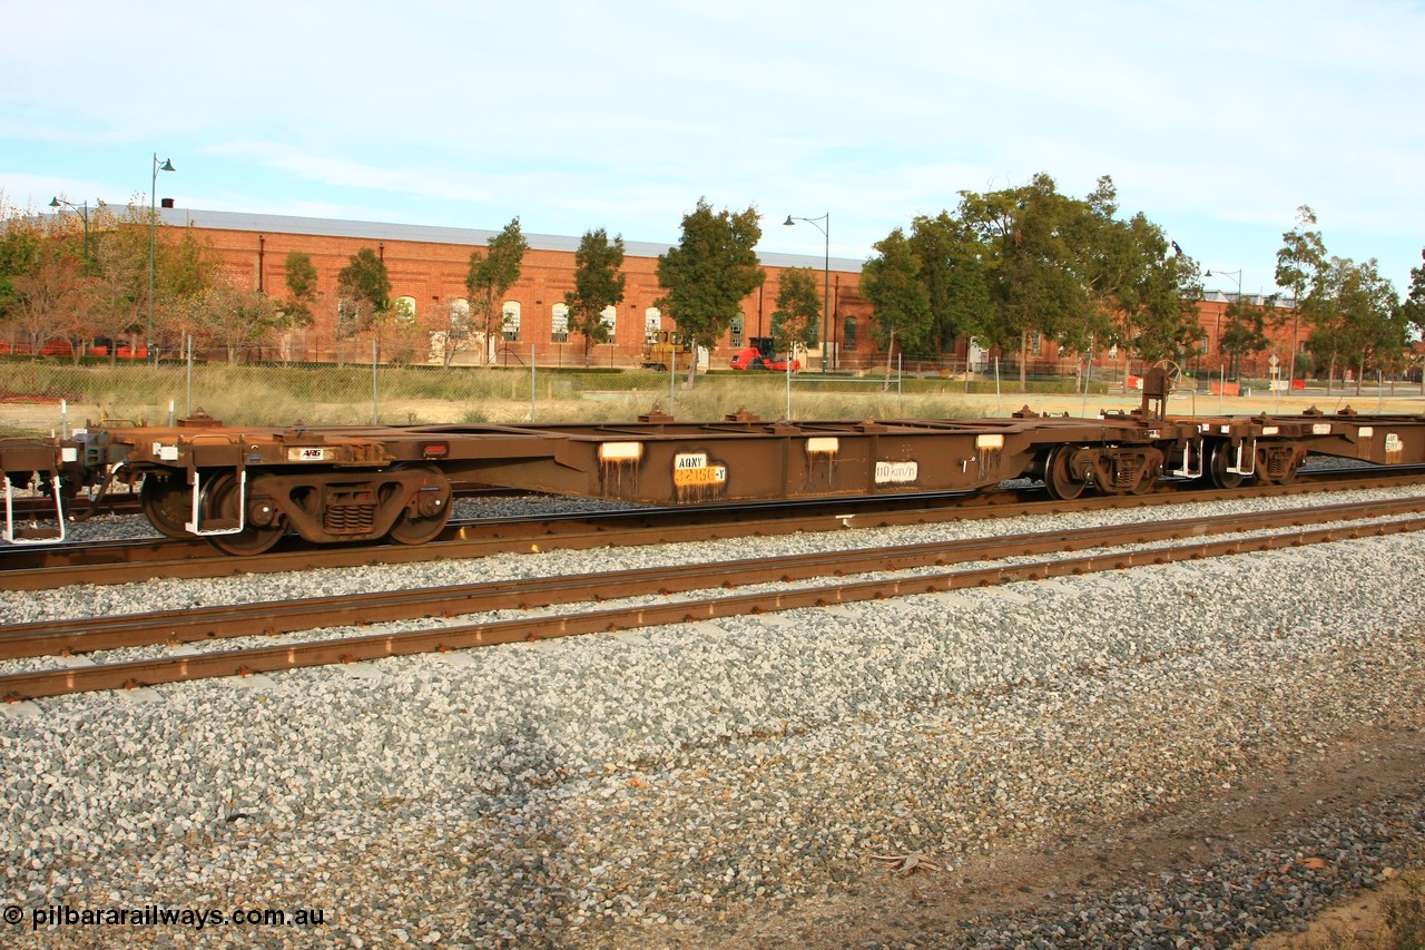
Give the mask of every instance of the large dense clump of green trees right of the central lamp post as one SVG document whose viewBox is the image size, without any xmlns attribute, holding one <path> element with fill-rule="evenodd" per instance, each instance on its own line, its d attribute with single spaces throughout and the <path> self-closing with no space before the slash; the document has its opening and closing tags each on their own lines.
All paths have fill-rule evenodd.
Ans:
<svg viewBox="0 0 1425 950">
<path fill-rule="evenodd" d="M 1107 175 L 1087 198 L 1060 194 L 1046 174 L 962 191 L 955 213 L 915 218 L 908 242 L 931 311 L 896 331 L 908 355 L 933 358 L 975 335 L 1017 349 L 1023 381 L 1036 335 L 1079 352 L 1129 345 L 1144 359 L 1181 357 L 1203 335 L 1197 265 L 1143 214 L 1121 218 Z"/>
</svg>

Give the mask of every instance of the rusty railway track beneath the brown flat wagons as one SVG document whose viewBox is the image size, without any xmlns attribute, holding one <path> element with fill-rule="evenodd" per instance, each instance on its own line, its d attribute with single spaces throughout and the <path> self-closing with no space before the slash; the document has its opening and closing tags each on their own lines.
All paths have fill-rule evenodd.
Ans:
<svg viewBox="0 0 1425 950">
<path fill-rule="evenodd" d="M 1419 484 L 1421 466 L 1379 466 L 1302 472 L 1290 485 L 1258 485 L 1233 491 L 1183 491 L 1164 482 L 1150 495 L 1106 495 L 1073 502 L 1053 501 L 1040 488 L 992 495 L 891 496 L 819 499 L 755 506 L 640 508 L 601 514 L 560 514 L 539 519 L 476 518 L 452 522 L 437 541 L 425 545 L 306 545 L 289 538 L 275 551 L 232 558 L 202 541 L 144 538 L 54 546 L 6 548 L 0 552 L 0 585 L 14 591 L 46 591 L 74 583 L 113 585 L 150 578 L 221 578 L 311 568 L 352 568 L 372 563 L 483 558 L 496 553 L 589 549 L 707 541 L 734 536 L 842 531 L 858 526 L 935 523 L 952 519 L 1009 518 L 1102 511 L 1143 505 L 1174 505 L 1230 498 L 1291 496 L 1300 494 Z"/>
</svg>

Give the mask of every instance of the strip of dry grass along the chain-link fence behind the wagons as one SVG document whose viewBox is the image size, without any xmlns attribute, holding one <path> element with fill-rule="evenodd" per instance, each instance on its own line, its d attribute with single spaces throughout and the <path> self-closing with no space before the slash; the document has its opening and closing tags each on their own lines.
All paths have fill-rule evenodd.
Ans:
<svg viewBox="0 0 1425 950">
<path fill-rule="evenodd" d="M 58 431 L 93 424 L 162 425 L 205 412 L 229 425 L 413 425 L 617 422 L 650 412 L 680 421 L 747 412 L 762 419 L 963 418 L 980 412 L 972 394 L 995 392 L 992 374 L 938 367 L 923 375 L 784 374 L 765 369 L 684 372 L 543 365 L 522 354 L 512 365 L 392 365 L 379 349 L 343 364 L 158 364 L 13 357 L 0 362 L 0 428 Z M 1073 392 L 1067 377 L 1039 391 Z M 1094 381 L 1106 387 L 1107 381 Z M 1005 391 L 1017 379 L 1005 379 Z M 23 407 L 23 412 L 20 411 Z"/>
</svg>

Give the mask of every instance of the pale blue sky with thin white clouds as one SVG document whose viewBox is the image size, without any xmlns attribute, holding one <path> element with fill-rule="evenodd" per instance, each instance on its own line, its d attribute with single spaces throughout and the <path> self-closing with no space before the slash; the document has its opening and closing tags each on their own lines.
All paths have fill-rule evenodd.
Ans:
<svg viewBox="0 0 1425 950">
<path fill-rule="evenodd" d="M 962 190 L 1102 174 L 1271 291 L 1310 204 L 1404 294 L 1425 248 L 1425 4 L 0 0 L 0 200 L 675 242 L 700 197 L 760 250 L 864 260 Z M 1208 278 L 1235 290 L 1235 278 Z"/>
</svg>

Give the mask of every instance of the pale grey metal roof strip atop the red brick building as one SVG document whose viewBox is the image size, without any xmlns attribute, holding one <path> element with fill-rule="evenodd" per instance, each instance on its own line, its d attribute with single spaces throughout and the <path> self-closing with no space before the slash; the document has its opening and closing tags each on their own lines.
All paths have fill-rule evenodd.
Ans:
<svg viewBox="0 0 1425 950">
<path fill-rule="evenodd" d="M 244 211 L 205 211 L 201 208 L 160 208 L 160 220 L 174 227 L 195 225 L 215 231 L 266 231 L 269 234 L 315 234 L 321 237 L 355 237 L 372 241 L 420 241 L 426 244 L 460 244 L 484 247 L 499 231 L 480 228 L 445 228 L 423 224 L 388 224 L 383 221 L 343 221 L 339 218 L 302 218 L 288 214 L 248 214 Z M 534 250 L 567 251 L 579 250 L 577 237 L 563 234 L 526 234 L 524 240 Z M 628 257 L 658 257 L 668 250 L 667 244 L 650 241 L 624 241 Z M 809 267 L 822 270 L 825 258 L 804 254 L 758 252 L 758 260 L 768 267 Z M 862 261 L 845 257 L 831 258 L 834 271 L 861 272 Z"/>
</svg>

